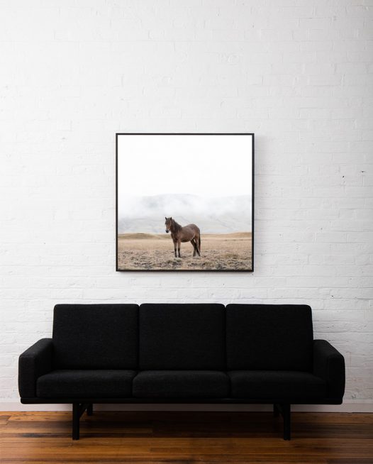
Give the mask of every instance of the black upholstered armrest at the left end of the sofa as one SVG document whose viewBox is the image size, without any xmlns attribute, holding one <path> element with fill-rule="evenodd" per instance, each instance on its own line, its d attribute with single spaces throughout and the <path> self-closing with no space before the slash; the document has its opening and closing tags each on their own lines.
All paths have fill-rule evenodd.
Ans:
<svg viewBox="0 0 373 464">
<path fill-rule="evenodd" d="M 36 397 L 36 380 L 52 370 L 52 338 L 42 338 L 18 360 L 18 390 L 21 398 Z"/>
</svg>

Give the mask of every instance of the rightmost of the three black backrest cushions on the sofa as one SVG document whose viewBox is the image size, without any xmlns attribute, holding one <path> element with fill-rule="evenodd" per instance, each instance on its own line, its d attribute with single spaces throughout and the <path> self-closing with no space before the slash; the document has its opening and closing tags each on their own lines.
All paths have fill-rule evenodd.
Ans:
<svg viewBox="0 0 373 464">
<path fill-rule="evenodd" d="M 228 304 L 228 370 L 312 370 L 310 306 Z"/>
</svg>

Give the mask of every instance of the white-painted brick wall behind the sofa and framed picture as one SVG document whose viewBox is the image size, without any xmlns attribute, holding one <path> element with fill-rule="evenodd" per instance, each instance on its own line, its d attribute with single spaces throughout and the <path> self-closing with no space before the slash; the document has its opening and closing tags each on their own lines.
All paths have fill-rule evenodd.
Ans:
<svg viewBox="0 0 373 464">
<path fill-rule="evenodd" d="M 54 304 L 213 301 L 311 304 L 345 355 L 350 410 L 372 409 L 372 11 L 1 1 L 2 407 Z M 115 272 L 120 131 L 255 133 L 253 274 Z"/>
</svg>

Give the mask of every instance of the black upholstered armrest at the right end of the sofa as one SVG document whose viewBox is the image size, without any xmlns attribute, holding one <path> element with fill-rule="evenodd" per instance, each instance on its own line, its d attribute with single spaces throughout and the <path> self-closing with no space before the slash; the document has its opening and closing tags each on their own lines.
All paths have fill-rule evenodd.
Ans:
<svg viewBox="0 0 373 464">
<path fill-rule="evenodd" d="M 326 340 L 313 341 L 313 374 L 325 380 L 328 397 L 342 402 L 345 393 L 345 358 Z"/>
</svg>

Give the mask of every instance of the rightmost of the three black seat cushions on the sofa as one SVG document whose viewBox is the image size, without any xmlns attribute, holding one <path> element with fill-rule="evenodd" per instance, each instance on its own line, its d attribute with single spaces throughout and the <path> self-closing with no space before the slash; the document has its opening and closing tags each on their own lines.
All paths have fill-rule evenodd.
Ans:
<svg viewBox="0 0 373 464">
<path fill-rule="evenodd" d="M 235 370 L 228 372 L 230 396 L 248 399 L 318 399 L 326 395 L 325 382 L 308 372 Z"/>
</svg>

